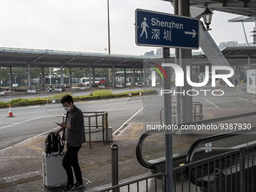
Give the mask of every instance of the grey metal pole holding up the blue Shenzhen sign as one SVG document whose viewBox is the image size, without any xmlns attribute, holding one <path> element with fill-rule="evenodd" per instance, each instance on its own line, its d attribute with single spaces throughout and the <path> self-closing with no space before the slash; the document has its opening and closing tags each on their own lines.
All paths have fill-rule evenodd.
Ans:
<svg viewBox="0 0 256 192">
<path fill-rule="evenodd" d="M 169 48 L 163 48 L 163 62 L 169 62 Z M 171 90 L 171 69 L 169 67 L 163 67 L 166 71 L 167 79 L 163 81 L 163 89 Z M 172 101 L 170 94 L 164 94 L 164 122 L 166 127 L 172 127 Z M 171 192 L 173 187 L 173 167 L 172 167 L 172 130 L 165 130 L 165 142 L 166 142 L 166 191 Z"/>
</svg>

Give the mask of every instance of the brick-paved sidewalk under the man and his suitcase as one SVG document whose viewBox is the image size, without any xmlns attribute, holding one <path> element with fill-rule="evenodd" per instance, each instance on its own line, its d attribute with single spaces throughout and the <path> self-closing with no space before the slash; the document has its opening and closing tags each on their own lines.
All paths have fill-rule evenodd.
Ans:
<svg viewBox="0 0 256 192">
<path fill-rule="evenodd" d="M 89 142 L 79 151 L 79 162 L 85 187 L 77 191 L 87 191 L 111 183 L 111 145 L 118 145 L 119 180 L 145 173 L 136 160 L 136 144 L 142 130 L 142 123 L 130 123 L 114 142 Z M 36 136 L 10 148 L 0 151 L 0 191 L 62 191 L 62 187 L 48 190 L 42 177 L 41 154 L 44 152 L 44 136 Z M 88 181 L 90 180 L 90 182 Z"/>
</svg>

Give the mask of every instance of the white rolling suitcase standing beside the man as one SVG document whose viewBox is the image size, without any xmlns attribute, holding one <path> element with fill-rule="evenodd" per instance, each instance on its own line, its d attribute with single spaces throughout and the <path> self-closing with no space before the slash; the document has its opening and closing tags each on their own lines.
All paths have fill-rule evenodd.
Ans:
<svg viewBox="0 0 256 192">
<path fill-rule="evenodd" d="M 67 181 L 66 170 L 62 166 L 65 151 L 59 153 L 42 154 L 44 186 L 49 189 L 53 186 L 64 184 Z"/>
</svg>

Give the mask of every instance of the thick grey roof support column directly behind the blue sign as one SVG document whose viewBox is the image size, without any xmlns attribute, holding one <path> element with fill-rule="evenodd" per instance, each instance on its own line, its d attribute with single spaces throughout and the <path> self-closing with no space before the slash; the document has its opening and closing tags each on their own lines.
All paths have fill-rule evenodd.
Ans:
<svg viewBox="0 0 256 192">
<path fill-rule="evenodd" d="M 182 16 L 190 16 L 190 1 L 189 0 L 179 0 L 178 1 L 178 14 Z M 180 66 L 183 72 L 186 72 L 186 66 L 191 66 L 192 50 L 190 49 L 180 49 Z M 192 72 L 192 70 L 190 70 Z M 192 87 L 187 84 L 187 79 L 184 75 L 184 87 L 181 89 L 181 123 L 192 122 L 192 96 L 187 96 L 187 90 L 192 90 Z M 191 75 L 190 75 L 191 77 Z"/>
</svg>

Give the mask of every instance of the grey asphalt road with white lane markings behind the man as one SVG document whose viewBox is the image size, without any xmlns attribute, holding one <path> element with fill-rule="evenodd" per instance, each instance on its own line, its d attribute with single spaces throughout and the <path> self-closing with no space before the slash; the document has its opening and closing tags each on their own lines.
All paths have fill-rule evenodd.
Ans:
<svg viewBox="0 0 256 192">
<path fill-rule="evenodd" d="M 157 89 L 160 90 L 159 87 Z M 127 90 L 131 89 L 124 91 Z M 123 92 L 123 90 L 114 90 L 113 92 Z M 84 92 L 74 91 L 72 94 L 78 95 L 84 94 Z M 45 95 L 42 94 L 41 96 L 44 97 Z M 17 97 L 32 96 L 24 94 L 24 96 L 10 96 L 6 99 Z M 207 119 L 226 116 L 227 114 L 255 111 L 256 102 L 253 98 L 254 96 L 237 95 L 236 91 L 230 88 L 225 90 L 224 96 L 204 96 L 200 94 L 194 96 L 194 101 L 203 103 L 203 113 L 205 119 Z M 172 100 L 175 102 L 175 97 Z M 108 126 L 112 127 L 114 133 L 121 126 L 125 127 L 130 122 L 159 122 L 160 110 L 163 108 L 163 96 L 145 96 L 143 102 L 138 99 L 127 103 L 127 99 L 122 98 L 75 102 L 75 105 L 81 108 L 82 111 L 108 111 Z M 15 107 L 12 108 L 15 117 L 7 117 L 8 108 L 0 109 L 0 150 L 33 136 L 58 129 L 54 122 L 61 122 L 61 115 L 65 111 L 61 105 L 58 108 L 50 109 L 50 112 L 46 112 L 45 108 L 45 105 Z"/>
</svg>

